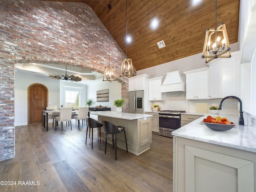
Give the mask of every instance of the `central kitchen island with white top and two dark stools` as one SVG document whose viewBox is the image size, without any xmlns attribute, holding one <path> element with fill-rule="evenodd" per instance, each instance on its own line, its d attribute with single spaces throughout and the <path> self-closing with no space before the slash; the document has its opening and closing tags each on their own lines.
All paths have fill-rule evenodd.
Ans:
<svg viewBox="0 0 256 192">
<path fill-rule="evenodd" d="M 108 121 L 117 126 L 125 127 L 129 152 L 139 155 L 150 149 L 152 115 L 118 113 L 115 111 L 90 112 L 90 114 L 97 115 L 99 122 Z M 104 132 L 104 129 L 102 129 L 102 132 Z M 112 135 L 108 135 L 108 137 L 111 138 L 109 141 L 112 141 Z M 117 134 L 117 138 L 125 140 L 124 134 Z M 105 140 L 105 134 L 101 135 L 101 139 Z M 117 140 L 117 146 L 126 150 L 125 142 Z"/>
</svg>

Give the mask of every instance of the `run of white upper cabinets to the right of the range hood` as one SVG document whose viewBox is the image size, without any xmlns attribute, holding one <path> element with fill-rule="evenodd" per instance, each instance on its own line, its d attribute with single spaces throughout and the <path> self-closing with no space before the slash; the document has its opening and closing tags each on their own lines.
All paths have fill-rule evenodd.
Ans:
<svg viewBox="0 0 256 192">
<path fill-rule="evenodd" d="M 209 68 L 184 72 L 186 98 L 190 100 L 239 97 L 239 51 L 232 52 L 231 55 L 231 58 L 218 58 L 215 62 L 210 62 Z"/>
</svg>

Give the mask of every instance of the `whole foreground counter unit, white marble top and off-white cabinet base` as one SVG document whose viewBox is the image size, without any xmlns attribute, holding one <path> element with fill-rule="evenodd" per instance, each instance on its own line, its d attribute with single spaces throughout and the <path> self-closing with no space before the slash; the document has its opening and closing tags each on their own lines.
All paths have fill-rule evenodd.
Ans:
<svg viewBox="0 0 256 192">
<path fill-rule="evenodd" d="M 256 191 L 255 127 L 248 121 L 238 125 L 236 115 L 220 115 L 235 126 L 224 132 L 214 131 L 202 123 L 206 116 L 172 132 L 173 191 Z"/>
</svg>

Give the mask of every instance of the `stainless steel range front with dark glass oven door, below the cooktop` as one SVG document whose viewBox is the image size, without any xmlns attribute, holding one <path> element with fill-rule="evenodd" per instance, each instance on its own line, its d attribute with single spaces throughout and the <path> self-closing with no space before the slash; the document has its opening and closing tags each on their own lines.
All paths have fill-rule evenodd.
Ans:
<svg viewBox="0 0 256 192">
<path fill-rule="evenodd" d="M 180 128 L 180 116 L 159 114 L 159 134 L 173 137 L 172 131 Z"/>
</svg>

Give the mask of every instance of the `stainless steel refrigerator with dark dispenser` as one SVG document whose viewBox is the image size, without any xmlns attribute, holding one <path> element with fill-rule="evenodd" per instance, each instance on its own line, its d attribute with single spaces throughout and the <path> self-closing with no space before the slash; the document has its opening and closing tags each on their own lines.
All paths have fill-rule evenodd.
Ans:
<svg viewBox="0 0 256 192">
<path fill-rule="evenodd" d="M 129 113 L 144 114 L 144 91 L 129 92 Z"/>
</svg>

